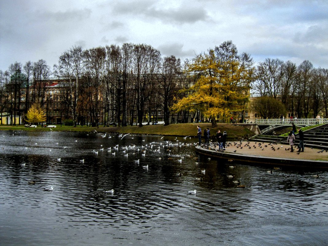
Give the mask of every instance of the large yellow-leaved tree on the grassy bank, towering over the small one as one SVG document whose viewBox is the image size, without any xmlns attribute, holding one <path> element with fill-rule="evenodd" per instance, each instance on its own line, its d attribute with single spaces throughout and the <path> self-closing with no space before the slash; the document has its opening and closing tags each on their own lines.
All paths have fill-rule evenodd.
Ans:
<svg viewBox="0 0 328 246">
<path fill-rule="evenodd" d="M 238 55 L 232 41 L 199 54 L 186 73 L 198 79 L 193 86 L 180 91 L 187 92 L 187 96 L 176 99 L 172 111 L 199 110 L 215 126 L 217 118 L 225 121 L 232 112 L 245 110 L 254 79 L 253 60 L 247 53 Z"/>
</svg>

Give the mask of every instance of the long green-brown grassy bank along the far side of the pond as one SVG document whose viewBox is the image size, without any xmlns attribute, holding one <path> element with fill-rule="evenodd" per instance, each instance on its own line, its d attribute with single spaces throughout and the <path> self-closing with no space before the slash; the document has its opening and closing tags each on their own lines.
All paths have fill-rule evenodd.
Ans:
<svg viewBox="0 0 328 246">
<path fill-rule="evenodd" d="M 88 127 L 88 126 L 57 126 L 56 128 L 51 128 L 55 132 L 93 132 L 96 130 L 99 133 L 133 133 L 133 134 L 153 134 L 153 135 L 173 135 L 173 136 L 196 136 L 197 125 L 199 125 L 204 131 L 205 128 L 210 128 L 211 135 L 215 135 L 217 130 L 222 133 L 226 131 L 229 139 L 242 139 L 248 138 L 254 135 L 253 132 L 244 128 L 242 126 L 236 126 L 233 124 L 218 124 L 216 127 L 212 128 L 211 123 L 199 123 L 199 124 L 170 124 L 168 126 L 164 125 L 151 125 L 151 126 L 126 126 L 126 127 Z M 14 130 L 14 131 L 51 131 L 50 128 L 29 128 L 24 126 L 0 126 L 0 130 Z"/>
</svg>

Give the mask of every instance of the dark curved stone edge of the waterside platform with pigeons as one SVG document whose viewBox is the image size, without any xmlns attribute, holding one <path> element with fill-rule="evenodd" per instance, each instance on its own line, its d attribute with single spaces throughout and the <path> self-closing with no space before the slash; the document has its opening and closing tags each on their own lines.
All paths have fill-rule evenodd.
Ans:
<svg viewBox="0 0 328 246">
<path fill-rule="evenodd" d="M 328 162 L 327 161 L 316 161 L 316 160 L 301 160 L 301 159 L 290 159 L 290 158 L 277 158 L 277 157 L 268 157 L 260 155 L 248 155 L 248 154 L 236 154 L 226 151 L 210 150 L 205 149 L 200 146 L 196 146 L 196 153 L 202 154 L 205 156 L 217 158 L 217 159 L 226 159 L 226 160 L 235 160 L 248 164 L 259 164 L 263 166 L 284 166 L 284 167 L 299 167 L 306 169 L 323 169 L 328 171 Z"/>
</svg>

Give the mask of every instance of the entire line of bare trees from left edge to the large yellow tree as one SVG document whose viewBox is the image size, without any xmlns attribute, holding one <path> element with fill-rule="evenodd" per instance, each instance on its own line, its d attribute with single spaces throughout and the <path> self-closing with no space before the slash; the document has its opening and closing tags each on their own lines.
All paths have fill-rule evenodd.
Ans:
<svg viewBox="0 0 328 246">
<path fill-rule="evenodd" d="M 63 81 L 56 98 L 47 94 L 51 76 Z M 16 62 L 8 71 L 1 72 L 1 89 L 6 92 L 1 93 L 0 109 L 2 112 L 10 109 L 10 114 L 15 112 L 12 124 L 17 124 L 20 93 L 26 90 L 25 114 L 33 103 L 48 112 L 51 105 L 60 101 L 61 117 L 72 115 L 74 126 L 85 119 L 98 126 L 100 113 L 104 125 L 113 122 L 118 126 L 133 125 L 136 118 L 142 126 L 144 115 L 155 112 L 153 120 L 156 120 L 158 110 L 163 112 L 168 125 L 174 95 L 186 86 L 182 77 L 180 59 L 162 58 L 149 45 L 126 43 L 121 47 L 111 45 L 88 50 L 74 46 L 60 55 L 52 72 L 44 60 L 27 62 L 24 66 Z"/>
</svg>

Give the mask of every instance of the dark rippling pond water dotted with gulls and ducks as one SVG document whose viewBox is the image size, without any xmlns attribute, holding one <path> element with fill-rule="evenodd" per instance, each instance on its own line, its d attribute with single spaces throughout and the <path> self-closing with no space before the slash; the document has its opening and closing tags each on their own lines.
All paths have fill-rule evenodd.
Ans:
<svg viewBox="0 0 328 246">
<path fill-rule="evenodd" d="M 1 245 L 328 245 L 325 172 L 208 160 L 195 138 L 0 139 Z"/>
</svg>

